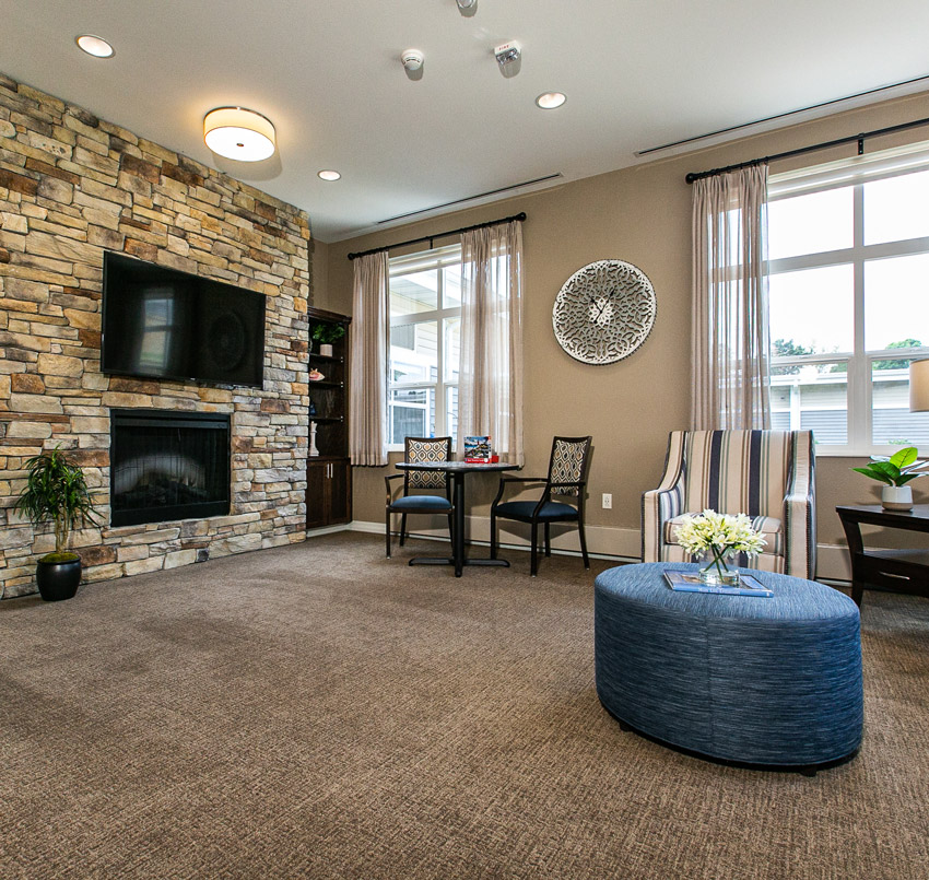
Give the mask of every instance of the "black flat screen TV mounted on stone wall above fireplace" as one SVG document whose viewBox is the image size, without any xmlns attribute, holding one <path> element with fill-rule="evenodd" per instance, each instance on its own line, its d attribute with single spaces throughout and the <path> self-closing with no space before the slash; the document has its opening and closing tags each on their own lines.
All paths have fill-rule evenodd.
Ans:
<svg viewBox="0 0 929 880">
<path fill-rule="evenodd" d="M 104 255 L 104 373 L 260 388 L 263 364 L 263 294 Z"/>
</svg>

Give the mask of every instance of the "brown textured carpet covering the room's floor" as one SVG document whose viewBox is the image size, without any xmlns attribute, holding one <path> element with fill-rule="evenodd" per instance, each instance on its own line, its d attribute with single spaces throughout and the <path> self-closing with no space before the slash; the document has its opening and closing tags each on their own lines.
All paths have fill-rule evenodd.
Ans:
<svg viewBox="0 0 929 880">
<path fill-rule="evenodd" d="M 815 778 L 597 701 L 579 560 L 376 536 L 0 603 L 0 877 L 926 878 L 929 600 L 869 594 L 866 735 Z"/>
</svg>

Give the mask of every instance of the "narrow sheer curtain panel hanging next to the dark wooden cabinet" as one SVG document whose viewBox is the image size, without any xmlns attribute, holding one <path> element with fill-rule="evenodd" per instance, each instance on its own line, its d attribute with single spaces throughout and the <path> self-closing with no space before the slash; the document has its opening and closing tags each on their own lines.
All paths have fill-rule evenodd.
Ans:
<svg viewBox="0 0 929 880">
<path fill-rule="evenodd" d="M 387 251 L 355 258 L 349 453 L 353 465 L 387 464 Z"/>
</svg>

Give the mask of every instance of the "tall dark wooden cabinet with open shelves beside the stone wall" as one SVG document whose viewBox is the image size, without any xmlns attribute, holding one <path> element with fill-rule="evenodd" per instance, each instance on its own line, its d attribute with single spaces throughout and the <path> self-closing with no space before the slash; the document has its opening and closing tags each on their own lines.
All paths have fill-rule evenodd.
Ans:
<svg viewBox="0 0 929 880">
<path fill-rule="evenodd" d="M 319 308 L 309 318 L 310 446 L 306 462 L 306 527 L 320 528 L 352 519 L 352 466 L 349 460 L 349 332 L 351 318 Z M 320 351 L 317 328 L 344 329 L 332 339 L 332 353 Z M 325 332 L 324 332 L 325 336 Z M 313 379 L 314 375 L 322 378 Z M 314 450 L 318 455 L 309 455 Z"/>
</svg>

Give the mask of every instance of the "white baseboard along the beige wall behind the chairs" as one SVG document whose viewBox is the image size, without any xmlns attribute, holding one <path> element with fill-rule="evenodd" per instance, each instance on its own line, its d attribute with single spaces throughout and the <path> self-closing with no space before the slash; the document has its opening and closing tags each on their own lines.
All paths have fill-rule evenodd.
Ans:
<svg viewBox="0 0 929 880">
<path fill-rule="evenodd" d="M 501 547 L 508 550 L 529 550 L 527 535 L 519 533 L 522 524 L 510 520 L 499 523 Z M 515 526 L 515 528 L 513 528 Z M 528 532 L 528 526 L 522 531 Z M 318 535 L 329 535 L 336 531 L 364 531 L 372 535 L 384 535 L 384 523 L 372 523 L 355 519 L 344 526 L 330 526 L 307 531 L 307 538 Z M 486 516 L 466 517 L 466 531 L 473 544 L 490 544 L 491 520 Z M 563 555 L 579 556 L 577 529 L 572 527 L 553 526 L 552 552 Z M 642 560 L 642 532 L 638 529 L 622 529 L 612 526 L 587 526 L 587 548 L 593 559 L 615 560 L 616 562 L 638 562 Z M 410 531 L 411 538 L 422 538 L 427 541 L 447 541 L 448 528 L 443 525 L 435 528 L 416 527 Z M 848 548 L 842 544 L 819 544 L 816 548 L 816 578 L 839 584 L 851 580 L 851 563 Z"/>
</svg>

